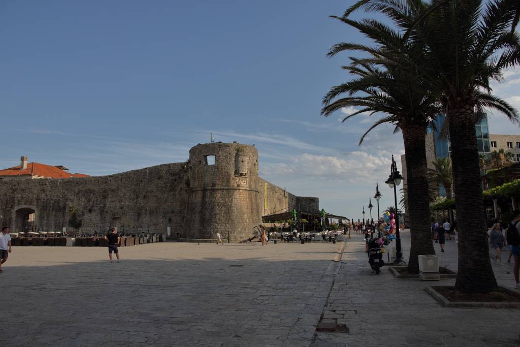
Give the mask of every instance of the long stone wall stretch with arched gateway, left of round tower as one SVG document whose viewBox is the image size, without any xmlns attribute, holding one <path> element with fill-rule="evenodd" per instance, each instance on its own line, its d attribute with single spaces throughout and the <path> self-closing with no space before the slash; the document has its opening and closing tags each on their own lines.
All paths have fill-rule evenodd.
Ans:
<svg viewBox="0 0 520 347">
<path fill-rule="evenodd" d="M 186 214 L 186 163 L 164 164 L 109 176 L 0 181 L 0 221 L 15 228 L 16 212 L 36 211 L 36 226 L 59 230 L 77 211 L 81 231 L 180 229 Z"/>
</svg>

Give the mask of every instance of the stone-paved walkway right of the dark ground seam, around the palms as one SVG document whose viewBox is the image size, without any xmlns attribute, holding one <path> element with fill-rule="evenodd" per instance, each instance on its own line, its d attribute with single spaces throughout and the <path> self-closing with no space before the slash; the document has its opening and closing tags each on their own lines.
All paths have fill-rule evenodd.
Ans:
<svg viewBox="0 0 520 347">
<path fill-rule="evenodd" d="M 457 268 L 455 241 L 446 241 L 441 265 Z M 402 234 L 405 260 L 409 233 Z M 512 264 L 493 264 L 500 285 L 512 289 Z M 508 274 L 507 272 L 510 272 Z M 434 285 L 453 285 L 442 279 Z M 340 272 L 324 307 L 324 318 L 337 319 L 350 332 L 319 332 L 314 346 L 515 346 L 520 345 L 520 310 L 446 309 L 424 288 L 432 282 L 397 279 L 387 269 L 371 274 L 362 236 L 347 242 Z"/>
</svg>

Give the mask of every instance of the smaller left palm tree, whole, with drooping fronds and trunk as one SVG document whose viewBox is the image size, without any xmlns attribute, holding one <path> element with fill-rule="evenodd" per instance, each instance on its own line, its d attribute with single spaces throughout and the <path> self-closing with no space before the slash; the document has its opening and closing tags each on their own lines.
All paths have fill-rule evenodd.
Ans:
<svg viewBox="0 0 520 347">
<path fill-rule="evenodd" d="M 365 134 L 380 124 L 392 124 L 394 133 L 399 130 L 405 144 L 407 165 L 407 190 L 414 203 L 408 207 L 410 219 L 411 248 L 408 261 L 408 271 L 419 273 L 420 254 L 434 254 L 430 229 L 430 203 L 428 201 L 428 176 L 426 162 L 426 128 L 432 124 L 436 114 L 440 112 L 440 104 L 430 95 L 430 89 L 421 78 L 421 71 L 415 69 L 395 69 L 395 62 L 407 64 L 410 56 L 420 52 L 417 47 L 408 45 L 402 34 L 392 31 L 385 25 L 374 20 L 357 22 L 346 17 L 334 17 L 368 35 L 382 48 L 366 49 L 370 59 L 350 58 L 350 65 L 343 66 L 354 78 L 339 86 L 331 88 L 323 98 L 322 114 L 330 115 L 343 107 L 360 107 L 359 111 L 347 115 L 346 121 L 363 112 L 383 113 Z M 400 46 L 405 54 L 389 57 L 385 54 L 387 47 Z M 363 50 L 365 46 L 340 43 L 334 45 L 328 56 L 334 56 L 344 50 Z M 419 57 L 417 59 L 420 59 Z M 343 94 L 346 94 L 343 97 Z M 337 98 L 340 97 L 340 98 Z M 337 99 L 336 99 L 337 98 Z"/>
</svg>

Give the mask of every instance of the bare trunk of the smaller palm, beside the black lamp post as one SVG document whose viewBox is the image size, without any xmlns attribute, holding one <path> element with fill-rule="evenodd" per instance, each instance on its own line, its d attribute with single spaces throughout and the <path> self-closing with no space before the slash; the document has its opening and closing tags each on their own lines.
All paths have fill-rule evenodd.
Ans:
<svg viewBox="0 0 520 347">
<path fill-rule="evenodd" d="M 419 255 L 435 254 L 430 228 L 428 170 L 426 166 L 426 130 L 420 125 L 402 128 L 406 153 L 406 185 L 410 217 L 410 259 L 408 272 L 419 273 Z"/>
</svg>

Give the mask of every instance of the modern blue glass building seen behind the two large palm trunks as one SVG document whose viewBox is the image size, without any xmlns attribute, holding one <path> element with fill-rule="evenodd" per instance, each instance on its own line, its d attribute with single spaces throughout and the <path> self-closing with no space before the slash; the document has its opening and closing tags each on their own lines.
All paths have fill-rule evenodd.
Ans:
<svg viewBox="0 0 520 347">
<path fill-rule="evenodd" d="M 443 127 L 443 124 L 446 120 L 446 114 L 441 113 L 438 115 L 437 119 L 434 121 L 436 130 L 434 132 L 434 145 L 435 145 L 435 156 L 437 158 L 450 158 L 451 148 L 450 148 L 450 139 L 448 138 L 439 138 L 439 132 Z M 432 132 L 432 128 L 428 128 L 428 133 Z M 478 154 L 484 155 L 486 157 L 489 156 L 490 145 L 489 145 L 489 128 L 487 121 L 487 114 L 484 113 L 482 119 L 476 122 L 475 124 L 475 133 L 477 135 L 477 146 L 478 146 Z M 446 191 L 444 187 L 439 186 L 439 195 L 446 196 Z"/>
</svg>

